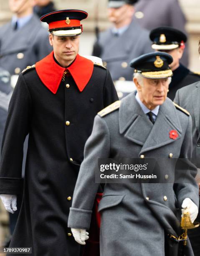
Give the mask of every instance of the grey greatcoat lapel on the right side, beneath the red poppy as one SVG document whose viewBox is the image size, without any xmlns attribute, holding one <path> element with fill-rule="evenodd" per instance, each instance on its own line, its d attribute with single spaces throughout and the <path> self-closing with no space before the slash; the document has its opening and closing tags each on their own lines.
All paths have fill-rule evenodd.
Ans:
<svg viewBox="0 0 200 256">
<path fill-rule="evenodd" d="M 182 128 L 176 111 L 172 101 L 168 98 L 162 105 L 160 105 L 157 119 L 139 154 L 173 143 L 177 139 L 180 139 Z M 170 131 L 172 130 L 176 130 L 178 133 L 176 139 L 170 138 Z"/>
</svg>

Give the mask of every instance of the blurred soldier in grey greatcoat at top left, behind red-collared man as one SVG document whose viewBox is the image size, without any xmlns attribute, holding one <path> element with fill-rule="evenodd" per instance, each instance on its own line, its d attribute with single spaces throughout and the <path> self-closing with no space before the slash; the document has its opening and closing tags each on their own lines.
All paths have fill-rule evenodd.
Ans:
<svg viewBox="0 0 200 256">
<path fill-rule="evenodd" d="M 0 66 L 11 75 L 19 74 L 48 55 L 48 31 L 33 14 L 34 0 L 9 0 L 12 20 L 0 27 Z"/>
</svg>

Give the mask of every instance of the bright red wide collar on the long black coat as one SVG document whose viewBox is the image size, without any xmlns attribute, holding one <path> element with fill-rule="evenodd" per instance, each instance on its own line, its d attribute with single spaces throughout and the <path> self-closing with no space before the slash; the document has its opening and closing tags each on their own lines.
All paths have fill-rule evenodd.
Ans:
<svg viewBox="0 0 200 256">
<path fill-rule="evenodd" d="M 43 84 L 54 94 L 56 94 L 63 72 L 66 70 L 70 72 L 78 90 L 82 92 L 92 76 L 94 64 L 91 60 L 77 54 L 75 61 L 66 69 L 54 61 L 52 51 L 44 59 L 36 62 L 35 69 Z"/>
</svg>

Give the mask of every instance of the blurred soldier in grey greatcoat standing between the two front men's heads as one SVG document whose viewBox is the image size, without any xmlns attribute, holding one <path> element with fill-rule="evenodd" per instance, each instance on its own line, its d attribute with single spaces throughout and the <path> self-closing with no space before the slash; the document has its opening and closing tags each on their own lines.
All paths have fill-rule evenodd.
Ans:
<svg viewBox="0 0 200 256">
<path fill-rule="evenodd" d="M 100 57 L 111 72 L 112 79 L 133 79 L 128 63 L 152 51 L 149 32 L 133 21 L 134 4 L 137 0 L 109 0 L 108 18 L 113 27 L 100 33 L 92 55 Z"/>
</svg>

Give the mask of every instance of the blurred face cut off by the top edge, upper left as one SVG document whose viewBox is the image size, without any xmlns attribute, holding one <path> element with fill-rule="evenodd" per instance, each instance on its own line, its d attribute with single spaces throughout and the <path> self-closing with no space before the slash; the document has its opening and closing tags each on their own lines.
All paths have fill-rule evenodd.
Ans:
<svg viewBox="0 0 200 256">
<path fill-rule="evenodd" d="M 19 18 L 33 13 L 35 0 L 9 0 L 9 7 L 12 13 Z"/>
</svg>

